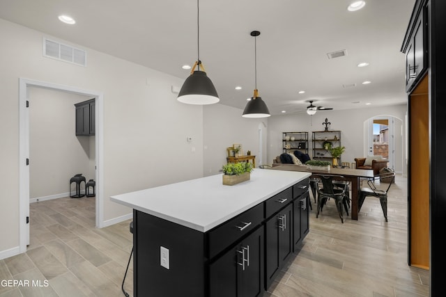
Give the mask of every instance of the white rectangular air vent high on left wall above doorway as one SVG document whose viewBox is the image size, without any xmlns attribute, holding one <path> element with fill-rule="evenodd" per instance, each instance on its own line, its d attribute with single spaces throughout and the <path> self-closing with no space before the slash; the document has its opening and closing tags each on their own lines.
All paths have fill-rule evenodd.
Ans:
<svg viewBox="0 0 446 297">
<path fill-rule="evenodd" d="M 46 38 L 43 39 L 43 56 L 86 66 L 86 51 Z"/>
</svg>

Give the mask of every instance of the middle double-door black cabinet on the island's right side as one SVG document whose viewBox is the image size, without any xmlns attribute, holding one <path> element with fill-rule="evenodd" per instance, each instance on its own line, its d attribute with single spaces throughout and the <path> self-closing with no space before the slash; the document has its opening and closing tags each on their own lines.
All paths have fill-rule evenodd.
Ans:
<svg viewBox="0 0 446 297">
<path fill-rule="evenodd" d="M 293 252 L 293 204 L 272 216 L 265 224 L 266 288 Z"/>
</svg>

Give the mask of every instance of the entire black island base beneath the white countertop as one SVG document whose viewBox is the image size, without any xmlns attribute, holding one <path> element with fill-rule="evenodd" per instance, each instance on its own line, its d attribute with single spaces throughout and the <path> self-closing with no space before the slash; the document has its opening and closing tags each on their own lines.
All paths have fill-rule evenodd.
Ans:
<svg viewBox="0 0 446 297">
<path fill-rule="evenodd" d="M 263 296 L 308 232 L 308 188 L 302 179 L 206 232 L 134 209 L 134 296 Z"/>
</svg>

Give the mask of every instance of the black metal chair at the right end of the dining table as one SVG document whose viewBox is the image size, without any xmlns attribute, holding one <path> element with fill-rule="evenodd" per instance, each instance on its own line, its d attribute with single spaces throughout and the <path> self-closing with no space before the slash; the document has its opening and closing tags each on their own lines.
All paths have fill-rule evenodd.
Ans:
<svg viewBox="0 0 446 297">
<path fill-rule="evenodd" d="M 380 181 L 380 184 L 383 182 L 388 182 L 389 185 L 387 188 L 380 189 L 376 187 L 376 182 Z M 374 177 L 373 179 L 369 179 L 367 181 L 368 187 L 362 187 L 360 189 L 360 195 L 357 201 L 357 211 L 361 210 L 362 204 L 364 203 L 365 198 L 371 196 L 379 199 L 381 204 L 381 208 L 383 209 L 383 214 L 385 221 L 387 222 L 387 193 L 389 192 L 390 186 L 395 182 L 395 172 L 385 172 L 380 173 L 380 175 Z"/>
</svg>

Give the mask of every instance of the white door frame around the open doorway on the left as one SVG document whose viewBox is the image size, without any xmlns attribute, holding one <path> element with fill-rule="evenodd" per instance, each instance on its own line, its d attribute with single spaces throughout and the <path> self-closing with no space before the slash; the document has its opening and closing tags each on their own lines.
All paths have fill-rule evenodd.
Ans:
<svg viewBox="0 0 446 297">
<path fill-rule="evenodd" d="M 103 226 L 104 217 L 104 184 L 103 177 L 103 152 L 104 152 L 104 94 L 95 90 L 84 90 L 71 86 L 63 86 L 56 83 L 36 81 L 32 79 L 19 79 L 19 248 L 20 252 L 26 252 L 29 244 L 29 109 L 26 102 L 29 99 L 28 88 L 46 88 L 78 95 L 86 95 L 95 98 L 95 226 Z M 74 124 L 73 124 L 74 125 Z M 32 160 L 29 161 L 30 163 Z"/>
</svg>

